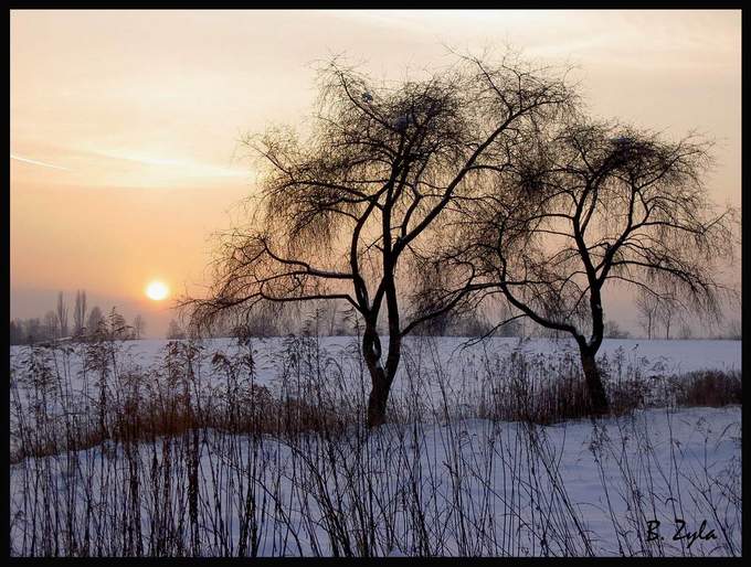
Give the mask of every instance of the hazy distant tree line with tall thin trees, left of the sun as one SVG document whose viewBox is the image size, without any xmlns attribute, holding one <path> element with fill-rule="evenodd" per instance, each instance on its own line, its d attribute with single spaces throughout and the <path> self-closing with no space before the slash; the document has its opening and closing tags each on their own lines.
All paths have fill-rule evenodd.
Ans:
<svg viewBox="0 0 751 567">
<path fill-rule="evenodd" d="M 57 293 L 55 308 L 44 317 L 17 318 L 10 321 L 10 344 L 102 339 L 129 341 L 140 339 L 146 330 L 146 321 L 140 314 L 128 324 L 115 307 L 107 314 L 98 306 L 88 309 L 85 290 L 76 291 L 72 320 L 68 318 L 70 313 L 65 296 L 61 291 Z"/>
</svg>

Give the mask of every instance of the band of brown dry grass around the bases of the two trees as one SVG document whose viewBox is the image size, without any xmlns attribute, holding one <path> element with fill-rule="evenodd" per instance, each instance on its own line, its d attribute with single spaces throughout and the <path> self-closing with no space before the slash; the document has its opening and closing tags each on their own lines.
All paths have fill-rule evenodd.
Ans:
<svg viewBox="0 0 751 567">
<path fill-rule="evenodd" d="M 352 391 L 352 381 L 345 377 L 342 364 L 321 368 L 315 339 L 293 338 L 287 344 L 286 377 L 282 393 L 255 383 L 252 349 L 229 357 L 224 353 L 203 353 L 210 356 L 212 368 L 226 375 L 224 388 L 213 392 L 202 400 L 201 376 L 195 374 L 194 363 L 200 347 L 190 343 L 172 342 L 165 350 L 165 368 L 157 373 L 134 371 L 116 374 L 110 368 L 113 342 L 88 344 L 83 353 L 74 353 L 70 346 L 50 344 L 29 349 L 21 376 L 11 379 L 11 387 L 19 386 L 34 392 L 39 402 L 33 414 L 35 424 L 30 427 L 27 410 L 15 402 L 19 417 L 14 434 L 23 435 L 22 442 L 11 448 L 11 463 L 29 457 L 47 457 L 70 450 L 96 447 L 106 440 L 114 442 L 154 441 L 163 436 L 176 437 L 193 429 L 216 429 L 228 434 L 272 435 L 275 437 L 300 435 L 306 431 L 327 431 L 338 435 L 359 425 L 366 392 L 363 376 L 361 391 Z M 504 359 L 486 356 L 480 368 L 486 387 L 466 399 L 463 393 L 452 389 L 449 381 L 442 376 L 434 343 L 426 343 L 421 356 L 434 365 L 435 376 L 443 396 L 440 418 L 485 418 L 496 421 L 523 421 L 550 425 L 570 419 L 592 416 L 588 391 L 575 356 L 548 360 L 512 352 Z M 293 352 L 294 351 L 294 352 Z M 99 378 L 114 379 L 102 387 L 93 381 L 93 391 L 85 393 L 95 403 L 84 415 L 76 409 L 63 407 L 49 415 L 45 398 L 60 402 L 72 391 L 72 376 L 64 375 L 63 361 L 83 354 L 88 372 Z M 62 360 L 59 360 L 61 359 Z M 51 362 L 54 361 L 54 362 Z M 423 361 L 424 362 L 424 361 Z M 607 361 L 605 361 L 607 362 Z M 422 363 L 421 363 L 422 364 Z M 306 366 L 303 368 L 303 366 Z M 406 364 L 410 379 L 420 383 L 423 370 L 414 363 Z M 637 408 L 660 406 L 741 405 L 741 375 L 739 372 L 692 372 L 683 376 L 650 376 L 650 384 L 633 367 L 617 368 L 609 375 L 604 364 L 604 379 L 612 416 L 630 415 Z M 56 373 L 56 375 L 55 375 Z M 322 377 L 321 373 L 328 373 Z M 302 377 L 305 375 L 304 377 Z M 477 378 L 477 376 L 475 376 Z M 203 378 L 205 379 L 205 378 Z M 70 396 L 68 396 L 70 397 Z M 390 417 L 394 422 L 423 419 L 431 413 L 421 407 L 421 392 L 414 391 L 415 403 L 392 399 Z M 452 400 L 464 399 L 463 409 L 456 411 Z M 70 399 L 68 399 L 70 402 Z M 25 416 L 25 419 L 24 419 Z M 25 421 L 25 424 L 24 424 Z M 33 435 L 32 435 L 33 434 Z"/>
</svg>

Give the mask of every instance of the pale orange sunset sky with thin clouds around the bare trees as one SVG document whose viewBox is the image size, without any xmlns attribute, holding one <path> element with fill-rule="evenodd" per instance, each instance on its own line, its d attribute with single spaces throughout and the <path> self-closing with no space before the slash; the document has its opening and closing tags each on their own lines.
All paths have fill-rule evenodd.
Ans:
<svg viewBox="0 0 751 567">
<path fill-rule="evenodd" d="M 299 124 L 316 64 L 343 54 L 399 79 L 447 64 L 449 47 L 506 45 L 572 65 L 595 116 L 715 139 L 710 193 L 740 206 L 739 10 L 13 10 L 11 317 L 85 288 L 162 335 L 254 192 L 239 140 Z M 155 279 L 171 298 L 145 297 Z M 626 301 L 612 309 L 634 328 Z"/>
</svg>

